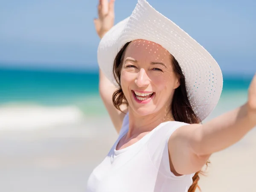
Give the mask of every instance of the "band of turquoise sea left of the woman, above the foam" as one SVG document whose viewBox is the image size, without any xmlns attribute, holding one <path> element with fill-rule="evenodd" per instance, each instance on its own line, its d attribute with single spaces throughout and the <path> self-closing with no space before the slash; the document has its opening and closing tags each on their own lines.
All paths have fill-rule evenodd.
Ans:
<svg viewBox="0 0 256 192">
<path fill-rule="evenodd" d="M 97 73 L 0 69 L 0 103 L 35 101 L 45 104 L 72 102 L 98 93 Z"/>
</svg>

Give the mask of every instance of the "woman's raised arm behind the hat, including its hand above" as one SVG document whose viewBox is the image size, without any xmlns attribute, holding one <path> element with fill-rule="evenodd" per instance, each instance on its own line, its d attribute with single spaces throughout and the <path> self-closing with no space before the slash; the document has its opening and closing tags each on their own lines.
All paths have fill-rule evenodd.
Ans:
<svg viewBox="0 0 256 192">
<path fill-rule="evenodd" d="M 114 0 L 109 2 L 108 0 L 99 0 L 98 16 L 99 18 L 94 19 L 94 24 L 99 38 L 102 38 L 114 24 Z M 125 113 L 118 111 L 113 105 L 112 96 L 116 89 L 111 81 L 99 70 L 99 93 L 114 127 L 119 133 Z M 121 109 L 127 112 L 125 106 L 121 106 Z"/>
</svg>

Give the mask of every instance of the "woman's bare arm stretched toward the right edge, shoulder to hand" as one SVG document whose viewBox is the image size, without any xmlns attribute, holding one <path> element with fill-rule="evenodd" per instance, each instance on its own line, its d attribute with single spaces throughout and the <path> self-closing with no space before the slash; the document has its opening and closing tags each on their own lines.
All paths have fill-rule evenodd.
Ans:
<svg viewBox="0 0 256 192">
<path fill-rule="evenodd" d="M 204 125 L 185 125 L 169 138 L 172 172 L 180 175 L 198 172 L 209 156 L 241 140 L 256 126 L 256 75 L 245 105 L 224 113 Z"/>
</svg>

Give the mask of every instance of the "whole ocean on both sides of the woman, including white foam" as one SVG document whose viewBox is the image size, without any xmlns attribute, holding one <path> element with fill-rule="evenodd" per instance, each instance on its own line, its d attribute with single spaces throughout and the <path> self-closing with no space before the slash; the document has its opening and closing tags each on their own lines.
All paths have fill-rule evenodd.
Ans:
<svg viewBox="0 0 256 192">
<path fill-rule="evenodd" d="M 247 89 L 253 77 L 225 74 L 223 76 L 223 91 L 216 114 L 245 102 Z M 83 117 L 105 116 L 107 111 L 99 97 L 98 84 L 98 72 L 2 68 L 0 128 L 17 126 L 12 119 L 19 119 L 21 114 L 23 121 L 18 125 L 22 127 L 42 125 L 42 122 L 49 120 L 49 116 L 52 123 L 60 125 L 64 123 L 63 119 L 67 118 L 71 119 L 71 122 L 76 122 Z M 32 125 L 29 120 L 31 115 L 37 119 Z M 26 118 L 27 122 L 24 120 Z"/>
</svg>

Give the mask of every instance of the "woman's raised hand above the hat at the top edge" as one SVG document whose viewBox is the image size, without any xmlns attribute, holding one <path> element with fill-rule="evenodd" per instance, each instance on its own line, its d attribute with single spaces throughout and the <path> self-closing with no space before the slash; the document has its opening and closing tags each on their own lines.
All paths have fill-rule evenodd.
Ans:
<svg viewBox="0 0 256 192">
<path fill-rule="evenodd" d="M 102 38 L 106 32 L 114 25 L 114 2 L 115 0 L 99 0 L 98 17 L 94 19 L 94 25 L 99 38 Z"/>
</svg>

